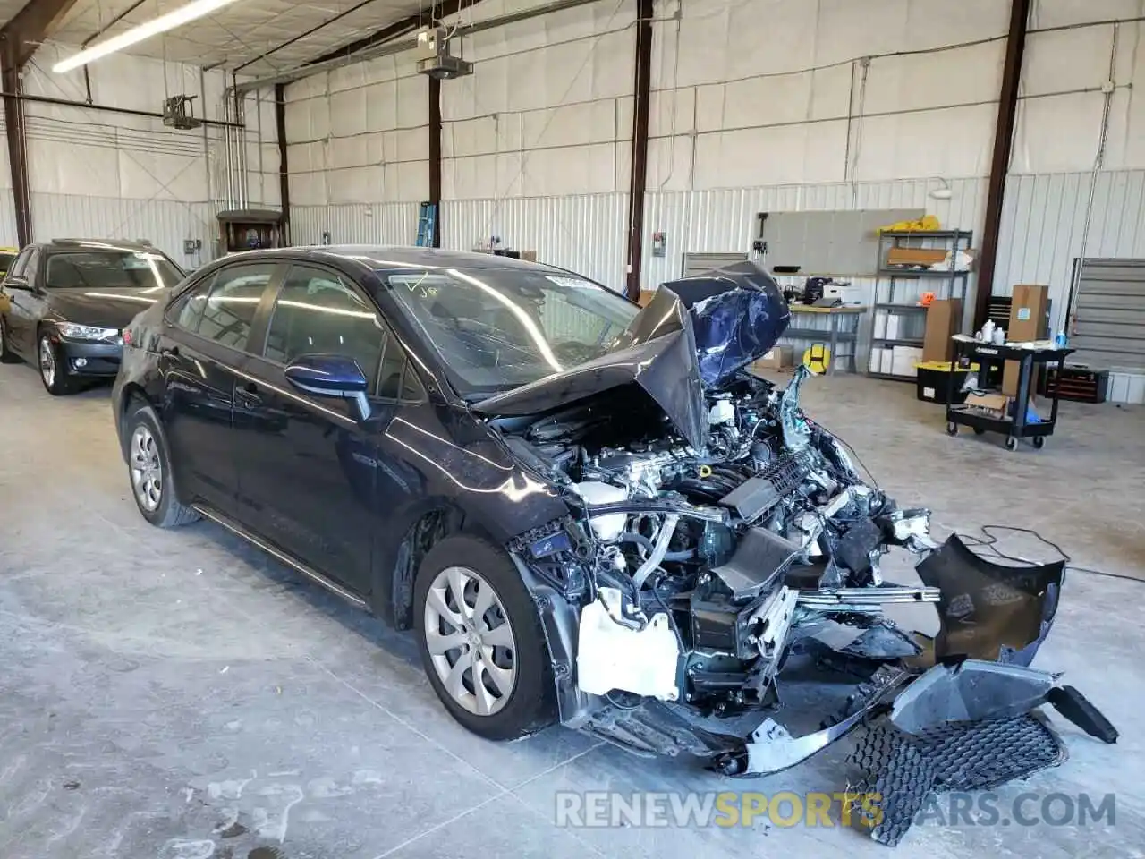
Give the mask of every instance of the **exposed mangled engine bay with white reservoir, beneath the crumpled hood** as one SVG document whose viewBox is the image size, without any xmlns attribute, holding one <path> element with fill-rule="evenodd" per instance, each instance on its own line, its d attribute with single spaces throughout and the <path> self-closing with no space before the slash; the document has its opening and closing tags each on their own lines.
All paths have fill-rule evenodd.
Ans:
<svg viewBox="0 0 1145 859">
<path fill-rule="evenodd" d="M 860 479 L 838 441 L 800 412 L 806 376 L 779 391 L 745 373 L 709 395 L 703 455 L 666 421 L 607 399 L 518 431 L 587 523 L 566 534 L 571 554 L 592 561 L 582 689 L 679 700 L 713 715 L 766 708 L 797 617 L 938 601 L 934 589 L 884 586 L 879 561 L 891 546 L 935 547 L 930 513 L 901 511 Z M 631 648 L 647 659 L 627 659 Z M 892 649 L 917 653 L 908 638 Z"/>
</svg>

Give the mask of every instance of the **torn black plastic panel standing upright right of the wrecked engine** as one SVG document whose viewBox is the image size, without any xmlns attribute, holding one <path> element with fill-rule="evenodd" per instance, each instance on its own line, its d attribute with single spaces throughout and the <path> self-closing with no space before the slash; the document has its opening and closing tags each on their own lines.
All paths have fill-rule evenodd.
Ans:
<svg viewBox="0 0 1145 859">
<path fill-rule="evenodd" d="M 941 591 L 935 660 L 965 656 L 1028 665 L 1053 624 L 1065 561 L 1005 566 L 976 554 L 957 534 L 915 568 Z"/>
</svg>

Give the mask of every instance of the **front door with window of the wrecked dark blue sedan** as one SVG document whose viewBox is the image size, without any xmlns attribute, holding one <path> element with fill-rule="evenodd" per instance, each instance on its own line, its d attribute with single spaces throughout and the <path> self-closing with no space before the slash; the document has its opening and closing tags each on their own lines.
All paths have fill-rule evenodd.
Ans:
<svg viewBox="0 0 1145 859">
<path fill-rule="evenodd" d="M 353 403 L 303 393 L 285 369 L 306 354 L 347 355 L 378 385 L 386 333 L 348 279 L 292 266 L 235 399 L 240 518 L 306 564 L 369 592 L 385 420 L 358 420 Z M 384 407 L 382 407 L 384 408 Z"/>
</svg>

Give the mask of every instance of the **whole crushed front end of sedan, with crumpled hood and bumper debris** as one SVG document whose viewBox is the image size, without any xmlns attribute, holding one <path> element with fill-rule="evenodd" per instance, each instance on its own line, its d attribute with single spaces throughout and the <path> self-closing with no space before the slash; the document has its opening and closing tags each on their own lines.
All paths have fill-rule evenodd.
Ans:
<svg viewBox="0 0 1145 859">
<path fill-rule="evenodd" d="M 697 284 L 705 297 L 686 306 Z M 900 509 L 804 413 L 808 370 L 782 388 L 749 372 L 789 318 L 765 273 L 665 287 L 615 360 L 477 407 L 570 510 L 508 546 L 553 594 L 562 722 L 727 775 L 777 772 L 862 726 L 891 738 L 855 758 L 876 787 L 900 772 L 894 755 L 946 761 L 958 743 L 1010 761 L 1008 778 L 1053 765 L 1060 741 L 1030 715 L 1047 702 L 1115 740 L 1076 689 L 1029 668 L 1064 565 L 937 545 L 930 511 Z M 890 552 L 913 555 L 923 584 L 886 581 Z M 900 628 L 894 604 L 933 605 L 939 633 Z M 956 769 L 943 782 L 931 766 L 929 789 L 995 783 Z M 895 806 L 872 835 L 895 843 L 910 814 Z"/>
</svg>

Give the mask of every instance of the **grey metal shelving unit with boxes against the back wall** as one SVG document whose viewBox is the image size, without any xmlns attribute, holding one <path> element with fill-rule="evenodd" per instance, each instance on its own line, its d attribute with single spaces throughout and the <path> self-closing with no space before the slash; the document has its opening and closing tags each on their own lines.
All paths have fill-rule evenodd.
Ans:
<svg viewBox="0 0 1145 859">
<path fill-rule="evenodd" d="M 917 247 L 925 250 L 941 250 L 951 252 L 951 259 L 957 257 L 958 251 L 966 251 L 973 239 L 970 230 L 929 230 L 929 231 L 886 231 L 879 235 L 878 260 L 876 261 L 875 302 L 870 314 L 870 348 L 889 349 L 895 346 L 922 348 L 923 328 L 926 323 L 926 308 L 917 304 L 923 292 L 933 292 L 937 299 L 961 298 L 963 300 L 963 312 L 965 312 L 966 283 L 970 277 L 969 271 L 955 271 L 953 269 L 911 269 L 892 268 L 886 265 L 887 257 L 893 247 Z M 914 284 L 916 289 L 910 290 Z M 918 289 L 919 284 L 925 284 L 925 289 Z M 907 293 L 913 292 L 914 301 L 909 300 Z M 907 299 L 907 300 L 903 300 Z M 879 330 L 879 315 L 886 315 L 886 324 L 883 326 L 883 336 L 876 337 Z M 887 337 L 887 328 L 891 326 L 891 317 L 895 318 L 895 329 L 906 329 L 906 332 L 897 330 L 894 337 Z M 917 333 L 917 337 L 911 334 Z M 868 355 L 867 375 L 872 379 L 894 379 L 899 381 L 914 381 L 910 375 L 885 372 L 886 368 L 882 362 L 879 367 L 871 368 L 871 357 Z"/>
</svg>

